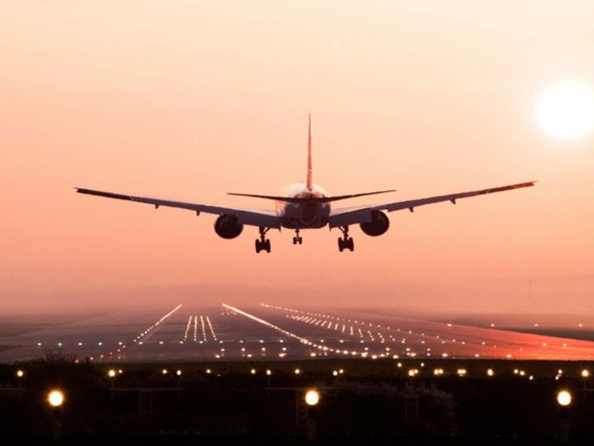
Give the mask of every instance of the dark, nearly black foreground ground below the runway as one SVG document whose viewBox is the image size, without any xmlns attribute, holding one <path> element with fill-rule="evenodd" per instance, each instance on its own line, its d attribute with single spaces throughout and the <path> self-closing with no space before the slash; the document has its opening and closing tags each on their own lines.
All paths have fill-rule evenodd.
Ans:
<svg viewBox="0 0 594 446">
<path fill-rule="evenodd" d="M 594 382 L 580 375 L 588 362 L 73 359 L 46 354 L 0 365 L 3 444 L 49 442 L 58 420 L 67 444 L 300 444 L 314 422 L 320 444 L 557 444 L 564 432 L 574 444 L 594 441 L 594 394 L 583 391 Z M 57 410 L 47 403 L 56 388 L 65 394 Z M 311 388 L 321 394 L 313 409 L 304 404 Z M 573 395 L 568 409 L 557 403 L 560 390 Z"/>
</svg>

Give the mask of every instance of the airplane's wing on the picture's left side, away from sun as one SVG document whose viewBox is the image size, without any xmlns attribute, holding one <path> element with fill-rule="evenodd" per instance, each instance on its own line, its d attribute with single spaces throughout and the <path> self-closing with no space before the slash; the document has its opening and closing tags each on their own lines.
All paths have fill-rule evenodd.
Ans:
<svg viewBox="0 0 594 446">
<path fill-rule="evenodd" d="M 197 214 L 199 214 L 200 212 L 206 212 L 213 213 L 215 215 L 236 215 L 238 218 L 238 222 L 240 224 L 267 228 L 280 228 L 280 218 L 276 215 L 276 212 L 274 211 L 260 211 L 257 209 L 222 208 L 220 206 L 200 205 L 197 203 L 184 203 L 149 197 L 137 197 L 133 195 L 116 194 L 100 190 L 83 189 L 81 187 L 77 187 L 75 189 L 78 193 L 81 194 L 115 198 L 118 200 L 128 200 L 131 202 L 138 203 L 148 203 L 149 205 L 153 205 L 155 209 L 159 208 L 159 206 L 168 206 L 169 208 L 189 209 L 190 211 L 195 211 Z"/>
</svg>

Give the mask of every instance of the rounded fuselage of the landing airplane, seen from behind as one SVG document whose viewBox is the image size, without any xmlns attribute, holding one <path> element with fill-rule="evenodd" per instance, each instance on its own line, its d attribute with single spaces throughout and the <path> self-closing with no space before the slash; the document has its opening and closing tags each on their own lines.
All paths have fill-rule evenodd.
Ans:
<svg viewBox="0 0 594 446">
<path fill-rule="evenodd" d="M 313 184 L 311 190 L 305 183 L 293 183 L 285 186 L 283 196 L 289 198 L 324 198 L 328 192 L 323 187 Z M 328 224 L 330 203 L 305 201 L 301 203 L 276 202 L 276 212 L 282 225 L 290 229 L 323 228 Z"/>
</svg>

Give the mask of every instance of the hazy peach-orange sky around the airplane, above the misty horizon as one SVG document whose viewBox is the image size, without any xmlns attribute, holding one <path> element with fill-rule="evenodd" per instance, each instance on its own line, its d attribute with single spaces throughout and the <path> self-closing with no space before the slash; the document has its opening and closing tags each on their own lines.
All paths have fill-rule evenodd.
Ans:
<svg viewBox="0 0 594 446">
<path fill-rule="evenodd" d="M 591 1 L 1 7 L 4 290 L 354 281 L 364 293 L 388 280 L 397 293 L 400 280 L 594 273 L 594 136 L 555 140 L 534 113 L 552 81 L 594 83 Z M 391 213 L 383 237 L 353 228 L 354 253 L 338 252 L 336 230 L 304 231 L 302 246 L 271 231 L 270 255 L 255 254 L 256 228 L 223 240 L 214 216 L 72 189 L 271 209 L 226 192 L 304 181 L 309 112 L 314 181 L 330 193 L 538 187 Z"/>
</svg>

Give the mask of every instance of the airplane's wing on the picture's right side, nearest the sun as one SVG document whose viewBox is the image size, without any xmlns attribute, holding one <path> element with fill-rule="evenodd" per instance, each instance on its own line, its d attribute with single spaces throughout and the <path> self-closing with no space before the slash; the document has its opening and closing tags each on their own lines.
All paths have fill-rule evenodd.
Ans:
<svg viewBox="0 0 594 446">
<path fill-rule="evenodd" d="M 494 192 L 503 192 L 506 190 L 520 189 L 522 187 L 534 186 L 535 183 L 536 181 L 529 181 L 528 183 L 510 184 L 508 186 L 491 187 L 490 189 L 481 189 L 469 192 L 439 195 L 435 197 L 421 198 L 417 200 L 406 200 L 403 202 L 396 203 L 384 203 L 381 205 L 362 206 L 359 208 L 336 209 L 330 212 L 328 220 L 330 228 L 366 223 L 372 221 L 373 211 L 393 212 L 400 211 L 400 209 L 408 209 L 410 212 L 413 212 L 417 206 L 431 205 L 432 203 L 440 202 L 451 202 L 455 205 L 456 200 L 460 198 L 475 197 L 478 195 L 486 195 Z"/>
</svg>

